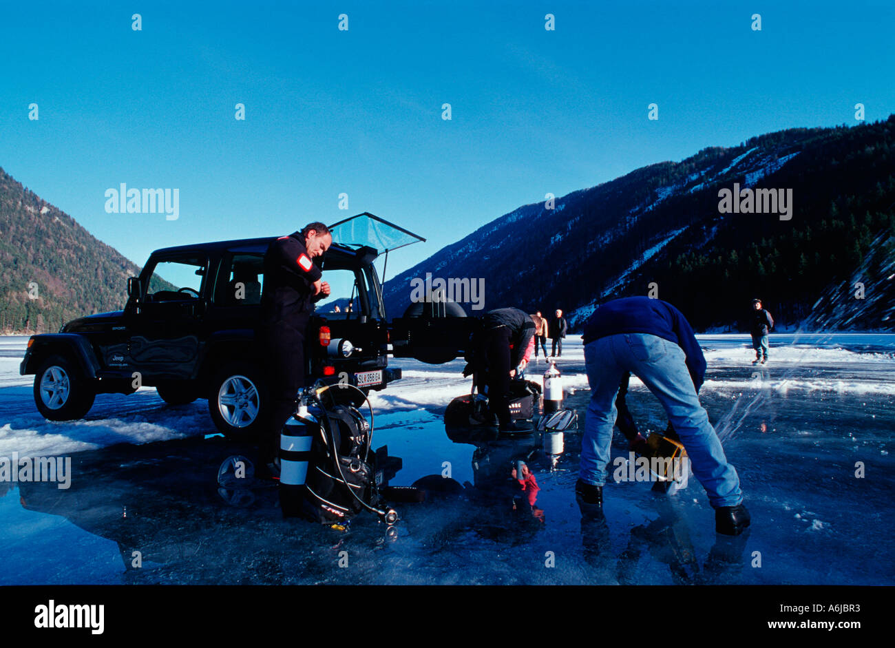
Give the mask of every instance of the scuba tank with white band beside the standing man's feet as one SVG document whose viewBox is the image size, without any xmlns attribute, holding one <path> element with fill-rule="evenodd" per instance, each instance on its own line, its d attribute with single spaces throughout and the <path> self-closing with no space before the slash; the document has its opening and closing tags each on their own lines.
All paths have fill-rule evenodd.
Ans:
<svg viewBox="0 0 895 648">
<path fill-rule="evenodd" d="M 304 403 L 286 420 L 280 433 L 280 506 L 283 516 L 301 515 L 304 482 L 308 478 L 311 443 L 320 423 Z"/>
</svg>

